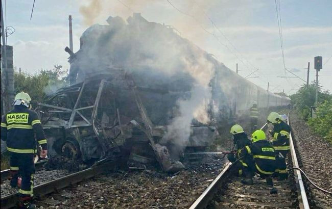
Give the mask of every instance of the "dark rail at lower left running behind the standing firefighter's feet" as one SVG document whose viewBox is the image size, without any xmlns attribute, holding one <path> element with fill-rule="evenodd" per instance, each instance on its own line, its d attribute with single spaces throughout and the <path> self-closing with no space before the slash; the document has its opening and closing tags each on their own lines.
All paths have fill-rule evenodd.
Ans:
<svg viewBox="0 0 332 209">
<path fill-rule="evenodd" d="M 51 180 L 48 182 L 45 182 L 41 185 L 38 185 L 34 187 L 33 193 L 34 197 L 40 197 L 46 194 L 50 194 L 52 192 L 59 191 L 65 187 L 68 187 L 70 185 L 77 184 L 78 182 L 91 178 L 93 176 L 96 176 L 98 174 L 101 174 L 109 169 L 111 169 L 115 164 L 114 161 L 106 161 L 101 160 L 100 163 L 96 163 L 95 166 L 92 166 L 90 168 L 87 168 L 85 170 L 69 174 L 66 176 L 63 176 L 61 178 L 57 178 L 55 180 Z M 11 208 L 15 207 L 19 201 L 19 194 L 14 193 L 7 195 L 5 197 L 1 198 L 1 208 Z"/>
</svg>

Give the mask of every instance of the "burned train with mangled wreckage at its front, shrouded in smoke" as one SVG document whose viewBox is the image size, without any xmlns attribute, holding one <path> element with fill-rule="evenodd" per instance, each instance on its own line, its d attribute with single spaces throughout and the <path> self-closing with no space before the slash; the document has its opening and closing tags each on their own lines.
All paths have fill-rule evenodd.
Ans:
<svg viewBox="0 0 332 209">
<path fill-rule="evenodd" d="M 65 49 L 70 85 L 39 103 L 50 155 L 90 161 L 120 154 L 132 165 L 159 163 L 176 172 L 184 168 L 181 153 L 204 151 L 218 135 L 215 126 L 254 101 L 258 108 L 289 101 L 243 79 L 169 25 L 137 13 L 107 22 L 91 25 L 76 53 Z"/>
</svg>

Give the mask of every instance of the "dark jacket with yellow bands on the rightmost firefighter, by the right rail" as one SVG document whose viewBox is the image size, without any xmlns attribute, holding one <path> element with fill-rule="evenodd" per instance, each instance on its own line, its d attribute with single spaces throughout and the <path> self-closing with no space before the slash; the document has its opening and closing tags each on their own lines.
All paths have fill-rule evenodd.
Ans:
<svg viewBox="0 0 332 209">
<path fill-rule="evenodd" d="M 289 135 L 291 132 L 290 126 L 280 120 L 274 124 L 273 131 L 271 133 L 273 137 L 272 146 L 275 150 L 289 150 Z"/>
</svg>

